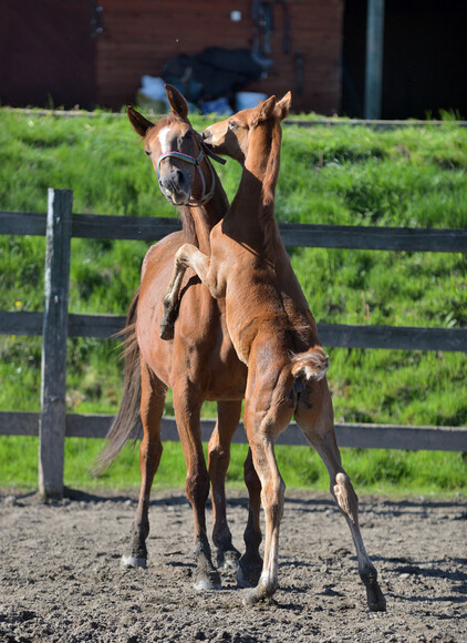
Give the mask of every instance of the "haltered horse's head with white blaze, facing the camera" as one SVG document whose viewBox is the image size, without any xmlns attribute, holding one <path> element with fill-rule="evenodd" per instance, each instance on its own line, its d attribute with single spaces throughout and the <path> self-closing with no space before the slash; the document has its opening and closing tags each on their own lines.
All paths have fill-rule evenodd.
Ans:
<svg viewBox="0 0 467 643">
<path fill-rule="evenodd" d="M 173 205 L 185 205 L 200 181 L 199 163 L 204 156 L 198 134 L 188 120 L 188 105 L 178 90 L 166 85 L 170 112 L 152 123 L 127 109 L 133 129 L 142 136 L 144 151 L 153 162 L 162 193 Z M 203 180 L 201 180 L 203 181 Z M 203 186 L 204 191 L 204 186 Z"/>
</svg>

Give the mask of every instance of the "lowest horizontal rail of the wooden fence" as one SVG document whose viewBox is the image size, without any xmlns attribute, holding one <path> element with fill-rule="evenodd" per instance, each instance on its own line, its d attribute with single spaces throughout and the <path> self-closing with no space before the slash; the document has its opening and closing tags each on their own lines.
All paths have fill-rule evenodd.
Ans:
<svg viewBox="0 0 467 643">
<path fill-rule="evenodd" d="M 111 415 L 66 415 L 66 437 L 105 438 L 111 426 Z M 203 441 L 208 441 L 215 427 L 214 419 L 201 420 Z M 38 436 L 39 414 L 0 412 L 0 435 Z M 467 452 L 467 428 L 460 427 L 407 427 L 397 425 L 339 423 L 335 426 L 340 447 L 367 449 L 409 449 Z M 178 441 L 174 418 L 165 417 L 162 422 L 163 440 Z M 247 443 L 242 425 L 238 427 L 235 443 Z M 279 437 L 278 445 L 308 446 L 295 423 Z"/>
</svg>

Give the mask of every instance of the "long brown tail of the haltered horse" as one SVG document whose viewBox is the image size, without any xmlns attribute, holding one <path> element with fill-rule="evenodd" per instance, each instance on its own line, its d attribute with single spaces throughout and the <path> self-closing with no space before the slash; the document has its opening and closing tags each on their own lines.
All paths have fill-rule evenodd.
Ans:
<svg viewBox="0 0 467 643">
<path fill-rule="evenodd" d="M 125 379 L 122 402 L 114 421 L 106 435 L 104 450 L 97 456 L 94 472 L 103 473 L 118 456 L 127 440 L 135 442 L 139 436 L 141 367 L 139 346 L 136 339 L 136 308 L 139 288 L 133 296 L 126 317 L 125 328 L 118 335 L 124 336 Z"/>
</svg>

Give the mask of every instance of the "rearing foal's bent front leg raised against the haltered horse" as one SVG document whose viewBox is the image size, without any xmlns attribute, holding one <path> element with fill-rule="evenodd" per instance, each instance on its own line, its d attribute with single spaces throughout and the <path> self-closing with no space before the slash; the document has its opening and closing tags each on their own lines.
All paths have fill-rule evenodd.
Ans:
<svg viewBox="0 0 467 643">
<path fill-rule="evenodd" d="M 187 268 L 191 267 L 205 283 L 209 271 L 209 257 L 191 244 L 184 244 L 175 255 L 174 272 L 164 295 L 164 314 L 160 322 L 160 338 L 174 339 L 174 325 L 180 305 L 181 282 Z"/>
</svg>

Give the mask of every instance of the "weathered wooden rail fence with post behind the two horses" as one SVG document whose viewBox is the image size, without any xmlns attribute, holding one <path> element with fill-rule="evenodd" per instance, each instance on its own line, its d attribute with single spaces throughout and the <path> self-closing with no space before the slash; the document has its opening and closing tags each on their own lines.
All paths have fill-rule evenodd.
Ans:
<svg viewBox="0 0 467 643">
<path fill-rule="evenodd" d="M 112 416 L 65 412 L 68 336 L 110 338 L 125 322 L 125 317 L 118 315 L 69 314 L 71 237 L 158 241 L 179 229 L 178 222 L 173 218 L 72 215 L 72 191 L 50 188 L 46 214 L 0 212 L 0 234 L 46 236 L 44 313 L 0 310 L 0 334 L 42 335 L 41 412 L 0 412 L 0 435 L 39 435 L 39 491 L 48 497 L 63 493 L 65 437 L 104 437 L 112 420 Z M 467 252 L 467 229 L 283 224 L 280 231 L 287 246 Z M 467 350 L 467 329 L 464 328 L 342 324 L 319 324 L 318 328 L 324 346 Z M 212 428 L 214 420 L 203 420 L 204 439 L 208 439 Z M 467 429 L 458 427 L 338 423 L 336 433 L 341 447 L 467 451 Z M 178 439 L 173 418 L 163 420 L 163 439 Z M 234 441 L 246 441 L 241 428 Z M 279 443 L 307 442 L 292 423 Z"/>
</svg>

